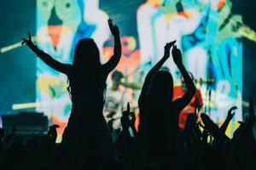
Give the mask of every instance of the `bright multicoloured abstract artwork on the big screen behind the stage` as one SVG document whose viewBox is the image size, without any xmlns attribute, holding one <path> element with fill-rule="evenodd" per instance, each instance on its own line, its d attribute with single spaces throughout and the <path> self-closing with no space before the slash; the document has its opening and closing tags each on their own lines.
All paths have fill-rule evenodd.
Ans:
<svg viewBox="0 0 256 170">
<path fill-rule="evenodd" d="M 55 59 L 72 64 L 76 43 L 82 37 L 92 37 L 100 49 L 102 63 L 106 62 L 113 54 L 113 41 L 108 29 L 108 11 L 103 11 L 100 4 L 111 5 L 99 0 L 38 0 L 38 47 Z M 241 112 L 242 44 L 241 35 L 236 31 L 241 16 L 233 15 L 232 20 L 225 23 L 232 8 L 230 0 L 148 0 L 134 8 L 136 18 L 129 20 L 137 22 L 134 28 L 137 35 L 122 34 L 121 22 L 115 22 L 113 15 L 114 23 L 121 27 L 123 46 L 117 70 L 126 75 L 129 82 L 143 82 L 149 68 L 162 57 L 166 42 L 177 40 L 183 63 L 195 79 L 213 80 L 196 84 L 201 89 L 204 110 L 212 120 L 224 122 L 225 113 L 233 105 Z M 127 16 L 125 18 L 127 20 Z M 167 60 L 165 68 L 171 71 L 175 84 L 179 84 L 179 73 L 172 59 Z M 37 77 L 37 103 L 40 104 L 37 111 L 44 111 L 52 123 L 65 127 L 71 111 L 67 77 L 40 59 Z M 136 107 L 140 90 L 127 88 L 125 93 Z M 228 129 L 230 133 L 238 120 L 241 115 L 236 114 Z M 62 130 L 59 129 L 60 134 Z"/>
</svg>

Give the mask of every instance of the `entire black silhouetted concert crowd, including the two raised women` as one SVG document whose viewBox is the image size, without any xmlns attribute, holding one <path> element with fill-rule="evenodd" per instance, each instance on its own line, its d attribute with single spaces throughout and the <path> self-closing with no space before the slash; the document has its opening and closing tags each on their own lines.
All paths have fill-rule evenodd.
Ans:
<svg viewBox="0 0 256 170">
<path fill-rule="evenodd" d="M 73 65 L 62 64 L 33 44 L 29 34 L 24 42 L 47 65 L 67 75 L 72 111 L 61 143 L 56 143 L 57 125 L 48 134 L 20 141 L 15 128 L 4 133 L 0 128 L 0 168 L 24 170 L 185 170 L 185 169 L 256 169 L 256 144 L 253 99 L 248 114 L 230 139 L 225 131 L 234 116 L 235 107 L 227 113 L 221 127 L 207 114 L 189 114 L 183 129 L 178 117 L 195 95 L 195 84 L 183 66 L 176 41 L 166 43 L 162 59 L 148 72 L 138 99 L 140 122 L 135 127 L 135 113 L 129 103 L 120 119 L 122 129 L 113 139 L 113 128 L 105 121 L 108 74 L 121 57 L 119 28 L 108 20 L 113 34 L 113 56 L 101 64 L 100 52 L 91 38 L 76 45 Z M 172 50 L 171 50 L 172 49 Z M 172 100 L 173 79 L 169 71 L 160 70 L 166 59 L 172 59 L 183 76 L 187 91 Z M 111 125 L 111 124 L 110 124 Z"/>
</svg>

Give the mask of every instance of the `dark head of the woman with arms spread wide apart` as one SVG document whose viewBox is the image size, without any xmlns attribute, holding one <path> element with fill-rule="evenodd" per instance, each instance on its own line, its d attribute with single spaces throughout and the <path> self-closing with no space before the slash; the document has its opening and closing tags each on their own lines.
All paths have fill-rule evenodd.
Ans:
<svg viewBox="0 0 256 170">
<path fill-rule="evenodd" d="M 75 48 L 73 66 L 86 69 L 100 65 L 100 51 L 96 42 L 92 38 L 80 39 Z"/>
</svg>

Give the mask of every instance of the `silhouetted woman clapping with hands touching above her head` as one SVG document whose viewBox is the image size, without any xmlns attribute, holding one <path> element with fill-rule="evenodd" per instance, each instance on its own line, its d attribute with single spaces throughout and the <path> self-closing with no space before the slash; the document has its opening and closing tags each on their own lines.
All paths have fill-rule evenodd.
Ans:
<svg viewBox="0 0 256 170">
<path fill-rule="evenodd" d="M 148 72 L 138 100 L 139 136 L 142 137 L 143 147 L 149 159 L 162 159 L 172 153 L 177 138 L 179 113 L 195 94 L 195 84 L 183 65 L 182 54 L 174 45 L 175 42 L 166 44 L 164 57 Z M 160 71 L 166 59 L 170 57 L 171 48 L 173 61 L 183 75 L 188 89 L 182 98 L 174 101 L 172 75 L 168 71 Z"/>
</svg>

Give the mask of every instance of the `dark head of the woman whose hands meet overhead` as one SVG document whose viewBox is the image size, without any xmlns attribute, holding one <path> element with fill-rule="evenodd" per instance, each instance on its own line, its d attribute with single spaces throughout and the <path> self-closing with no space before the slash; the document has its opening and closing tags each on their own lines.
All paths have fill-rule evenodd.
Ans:
<svg viewBox="0 0 256 170">
<path fill-rule="evenodd" d="M 173 79 L 169 71 L 159 71 L 154 75 L 149 95 L 151 99 L 161 103 L 172 101 Z"/>
</svg>

